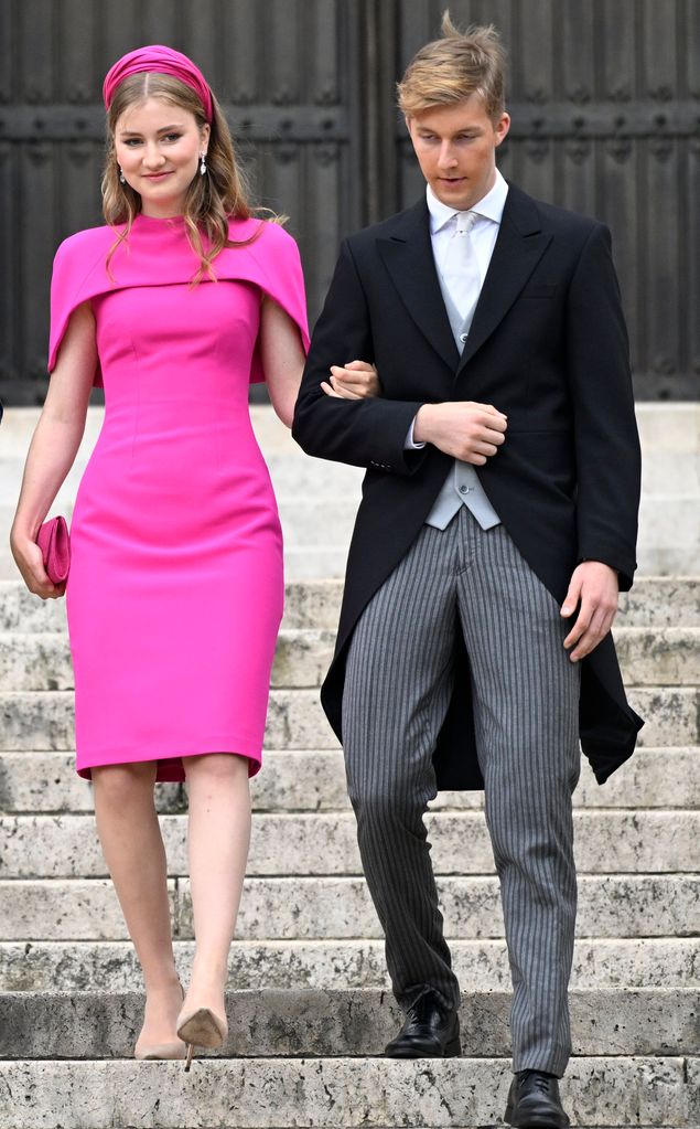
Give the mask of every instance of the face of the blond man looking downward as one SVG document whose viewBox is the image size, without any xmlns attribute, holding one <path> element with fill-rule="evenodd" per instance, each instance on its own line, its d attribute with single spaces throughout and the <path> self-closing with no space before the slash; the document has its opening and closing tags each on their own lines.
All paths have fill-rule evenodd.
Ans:
<svg viewBox="0 0 700 1129">
<path fill-rule="evenodd" d="M 496 149 L 511 119 L 493 122 L 484 102 L 472 94 L 464 102 L 435 106 L 407 119 L 420 172 L 443 204 L 468 211 L 494 186 Z"/>
</svg>

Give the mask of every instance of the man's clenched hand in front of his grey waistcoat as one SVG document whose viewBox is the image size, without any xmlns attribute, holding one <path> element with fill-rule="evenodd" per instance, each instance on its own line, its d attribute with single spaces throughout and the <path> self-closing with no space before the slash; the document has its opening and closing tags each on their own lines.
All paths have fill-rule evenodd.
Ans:
<svg viewBox="0 0 700 1129">
<path fill-rule="evenodd" d="M 416 414 L 414 440 L 432 443 L 453 458 L 484 466 L 504 443 L 507 426 L 507 417 L 493 404 L 423 404 Z"/>
</svg>

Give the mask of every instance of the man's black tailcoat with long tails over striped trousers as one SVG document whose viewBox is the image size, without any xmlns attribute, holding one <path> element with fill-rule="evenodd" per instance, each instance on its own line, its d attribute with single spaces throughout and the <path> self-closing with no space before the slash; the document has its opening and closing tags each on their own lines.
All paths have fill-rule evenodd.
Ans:
<svg viewBox="0 0 700 1129">
<path fill-rule="evenodd" d="M 383 394 L 328 397 L 331 365 L 374 361 Z M 627 331 L 608 228 L 511 186 L 460 358 L 435 272 L 425 199 L 345 240 L 316 325 L 293 435 L 310 455 L 366 467 L 340 624 L 321 701 L 342 739 L 347 645 L 371 596 L 415 540 L 452 460 L 405 449 L 424 403 L 478 401 L 508 418 L 478 473 L 517 549 L 558 602 L 575 566 L 596 560 L 628 589 L 636 567 L 639 440 Z M 440 734 L 442 788 L 481 787 L 468 659 Z M 460 672 L 463 676 L 460 676 Z M 602 784 L 633 751 L 611 636 L 583 660 L 581 738 Z"/>
</svg>

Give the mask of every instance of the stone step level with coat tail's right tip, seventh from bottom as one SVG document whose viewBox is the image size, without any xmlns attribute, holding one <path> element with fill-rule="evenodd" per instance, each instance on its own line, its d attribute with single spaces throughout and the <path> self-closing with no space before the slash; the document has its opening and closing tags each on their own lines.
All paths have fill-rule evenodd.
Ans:
<svg viewBox="0 0 700 1129">
<path fill-rule="evenodd" d="M 646 720 L 639 746 L 697 745 L 699 691 L 694 686 L 629 686 L 630 704 Z M 71 691 L 0 693 L 0 752 L 74 749 Z M 318 690 L 273 690 L 269 695 L 267 749 L 336 749 Z"/>
</svg>

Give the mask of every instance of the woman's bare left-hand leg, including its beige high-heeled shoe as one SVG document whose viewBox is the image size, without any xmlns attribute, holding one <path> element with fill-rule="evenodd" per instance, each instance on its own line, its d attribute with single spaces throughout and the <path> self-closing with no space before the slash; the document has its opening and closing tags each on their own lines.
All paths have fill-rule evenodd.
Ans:
<svg viewBox="0 0 700 1129">
<path fill-rule="evenodd" d="M 154 761 L 92 769 L 97 832 L 143 970 L 140 1045 L 174 1042 L 183 1003 L 170 928 L 167 864 L 156 805 Z"/>
</svg>

